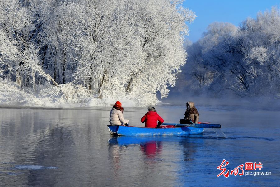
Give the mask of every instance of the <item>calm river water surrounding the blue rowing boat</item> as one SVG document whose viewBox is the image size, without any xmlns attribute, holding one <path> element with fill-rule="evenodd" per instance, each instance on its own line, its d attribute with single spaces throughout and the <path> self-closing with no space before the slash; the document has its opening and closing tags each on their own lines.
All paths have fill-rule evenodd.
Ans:
<svg viewBox="0 0 280 187">
<path fill-rule="evenodd" d="M 279 111 L 198 107 L 200 121 L 222 124 L 227 138 L 212 129 L 181 137 L 112 137 L 110 109 L 0 108 L 0 186 L 280 185 Z M 166 123 L 184 117 L 184 107 L 156 109 Z M 146 112 L 125 108 L 124 117 L 143 126 Z M 223 159 L 227 170 L 261 162 L 261 171 L 271 175 L 217 177 Z"/>
</svg>

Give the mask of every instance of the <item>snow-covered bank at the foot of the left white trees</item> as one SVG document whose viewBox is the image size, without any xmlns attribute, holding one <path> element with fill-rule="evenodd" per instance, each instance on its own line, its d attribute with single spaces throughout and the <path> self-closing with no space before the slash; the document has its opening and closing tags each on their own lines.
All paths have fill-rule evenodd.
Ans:
<svg viewBox="0 0 280 187">
<path fill-rule="evenodd" d="M 71 92 L 71 87 L 67 88 L 68 91 Z M 58 93 L 46 94 L 46 92 L 48 92 L 48 88 L 42 89 L 40 93 L 35 94 L 28 89 L 19 88 L 11 81 L 2 80 L 0 81 L 0 105 L 50 108 L 106 107 L 113 106 L 117 100 L 119 100 L 124 107 L 135 107 L 139 105 L 132 100 L 124 98 L 98 99 L 94 97 L 85 97 L 86 94 L 79 93 L 79 96 L 72 94 L 72 97 L 69 97 L 69 93 L 66 95 Z"/>
</svg>

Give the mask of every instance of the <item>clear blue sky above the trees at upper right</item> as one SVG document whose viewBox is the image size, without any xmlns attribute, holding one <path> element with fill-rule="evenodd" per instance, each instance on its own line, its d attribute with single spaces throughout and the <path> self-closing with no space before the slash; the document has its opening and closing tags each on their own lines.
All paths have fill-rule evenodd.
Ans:
<svg viewBox="0 0 280 187">
<path fill-rule="evenodd" d="M 197 41 L 207 26 L 212 22 L 229 22 L 236 26 L 247 17 L 255 18 L 257 12 L 280 6 L 279 0 L 186 0 L 184 7 L 194 11 L 198 16 L 189 25 L 191 41 Z"/>
</svg>

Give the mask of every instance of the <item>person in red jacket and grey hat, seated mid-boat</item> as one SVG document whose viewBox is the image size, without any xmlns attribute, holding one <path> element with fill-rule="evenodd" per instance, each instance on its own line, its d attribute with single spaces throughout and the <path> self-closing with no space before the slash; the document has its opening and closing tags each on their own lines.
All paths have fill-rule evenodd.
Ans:
<svg viewBox="0 0 280 187">
<path fill-rule="evenodd" d="M 159 121 L 158 123 L 156 123 Z M 149 106 L 148 112 L 141 118 L 141 122 L 145 122 L 145 127 L 156 128 L 160 127 L 163 119 L 157 114 L 155 107 Z"/>
</svg>

